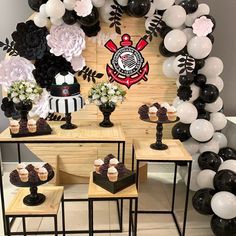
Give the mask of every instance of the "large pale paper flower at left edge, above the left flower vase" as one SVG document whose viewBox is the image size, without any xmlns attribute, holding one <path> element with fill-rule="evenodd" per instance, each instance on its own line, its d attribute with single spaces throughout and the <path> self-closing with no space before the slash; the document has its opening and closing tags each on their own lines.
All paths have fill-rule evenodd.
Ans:
<svg viewBox="0 0 236 236">
<path fill-rule="evenodd" d="M 34 65 L 23 57 L 10 57 L 0 63 L 0 84 L 8 88 L 16 80 L 34 81 Z"/>
</svg>

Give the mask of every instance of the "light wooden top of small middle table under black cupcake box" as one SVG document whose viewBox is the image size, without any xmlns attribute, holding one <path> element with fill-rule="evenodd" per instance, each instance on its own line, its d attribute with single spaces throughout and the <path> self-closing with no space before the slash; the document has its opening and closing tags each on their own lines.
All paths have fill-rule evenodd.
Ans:
<svg viewBox="0 0 236 236">
<path fill-rule="evenodd" d="M 137 198 L 137 197 L 138 197 L 138 192 L 135 184 L 121 190 L 118 193 L 113 194 L 93 183 L 93 175 L 92 174 L 90 175 L 88 198 Z"/>
</svg>

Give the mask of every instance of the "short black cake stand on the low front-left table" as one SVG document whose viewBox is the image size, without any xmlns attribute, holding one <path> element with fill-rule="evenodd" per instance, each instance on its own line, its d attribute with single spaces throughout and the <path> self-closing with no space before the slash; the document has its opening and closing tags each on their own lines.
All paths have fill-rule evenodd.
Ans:
<svg viewBox="0 0 236 236">
<path fill-rule="evenodd" d="M 50 171 L 48 173 L 48 178 L 46 181 L 37 181 L 37 182 L 22 182 L 22 181 L 18 181 L 18 182 L 12 182 L 11 183 L 17 187 L 28 187 L 30 189 L 30 194 L 25 196 L 23 199 L 23 202 L 25 205 L 27 206 L 38 206 L 41 205 L 45 199 L 46 196 L 42 193 L 38 193 L 38 186 L 45 184 L 47 182 L 49 182 L 50 180 L 52 180 L 54 177 L 54 171 Z"/>
</svg>

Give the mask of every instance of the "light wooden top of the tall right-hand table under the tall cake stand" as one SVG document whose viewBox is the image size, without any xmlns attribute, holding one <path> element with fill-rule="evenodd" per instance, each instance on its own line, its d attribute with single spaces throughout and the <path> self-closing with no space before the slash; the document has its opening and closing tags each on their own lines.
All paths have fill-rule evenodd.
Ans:
<svg viewBox="0 0 236 236">
<path fill-rule="evenodd" d="M 184 148 L 184 145 L 175 139 L 164 139 L 162 141 L 168 145 L 167 150 L 153 150 L 150 144 L 153 139 L 133 140 L 136 160 L 153 160 L 153 161 L 192 161 L 191 155 Z"/>
</svg>

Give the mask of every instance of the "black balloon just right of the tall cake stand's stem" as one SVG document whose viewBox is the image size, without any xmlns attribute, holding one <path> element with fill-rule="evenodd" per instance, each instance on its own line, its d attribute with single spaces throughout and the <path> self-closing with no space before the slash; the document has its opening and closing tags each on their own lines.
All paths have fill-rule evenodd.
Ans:
<svg viewBox="0 0 236 236">
<path fill-rule="evenodd" d="M 181 142 L 184 142 L 191 138 L 189 131 L 190 125 L 179 122 L 174 125 L 172 128 L 172 136 L 174 139 L 179 139 Z"/>
</svg>

